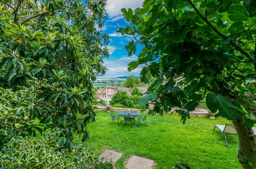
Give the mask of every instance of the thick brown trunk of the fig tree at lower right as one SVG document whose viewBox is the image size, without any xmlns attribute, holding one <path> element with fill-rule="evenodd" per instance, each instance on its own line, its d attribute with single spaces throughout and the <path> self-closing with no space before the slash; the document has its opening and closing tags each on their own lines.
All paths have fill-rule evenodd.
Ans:
<svg viewBox="0 0 256 169">
<path fill-rule="evenodd" d="M 256 140 L 251 128 L 244 125 L 245 115 L 233 121 L 235 130 L 238 133 L 238 160 L 244 168 L 253 168 L 249 163 L 252 162 L 256 167 Z"/>
</svg>

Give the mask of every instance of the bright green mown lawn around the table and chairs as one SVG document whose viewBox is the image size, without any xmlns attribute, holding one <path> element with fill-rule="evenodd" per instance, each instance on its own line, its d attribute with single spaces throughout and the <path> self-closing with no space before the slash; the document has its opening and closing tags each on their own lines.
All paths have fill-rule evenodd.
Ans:
<svg viewBox="0 0 256 169">
<path fill-rule="evenodd" d="M 131 155 L 154 160 L 156 168 L 171 168 L 181 158 L 192 168 L 242 168 L 238 150 L 226 147 L 224 137 L 213 131 L 215 124 L 228 123 L 226 119 L 191 117 L 183 125 L 178 115 L 155 115 L 147 121 L 148 126 L 140 128 L 111 125 L 110 113 L 97 112 L 96 122 L 88 125 L 87 144 L 99 150 L 99 155 L 105 150 L 123 153 L 116 168 L 124 168 L 125 159 Z"/>
</svg>

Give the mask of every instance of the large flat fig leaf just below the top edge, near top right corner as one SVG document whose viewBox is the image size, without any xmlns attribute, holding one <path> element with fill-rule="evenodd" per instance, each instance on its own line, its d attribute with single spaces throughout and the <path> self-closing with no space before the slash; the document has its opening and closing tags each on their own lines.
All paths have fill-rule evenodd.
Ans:
<svg viewBox="0 0 256 169">
<path fill-rule="evenodd" d="M 229 18 L 232 21 L 239 21 L 239 20 L 246 21 L 248 19 L 247 11 L 241 5 L 231 6 L 227 10 L 227 12 L 230 14 Z"/>
</svg>

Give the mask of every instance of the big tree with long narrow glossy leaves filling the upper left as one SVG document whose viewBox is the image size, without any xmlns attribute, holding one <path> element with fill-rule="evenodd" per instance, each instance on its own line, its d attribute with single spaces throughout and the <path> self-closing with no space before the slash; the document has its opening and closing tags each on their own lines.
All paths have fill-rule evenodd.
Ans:
<svg viewBox="0 0 256 169">
<path fill-rule="evenodd" d="M 85 141 L 86 123 L 95 120 L 92 81 L 106 72 L 109 38 L 96 29 L 103 27 L 106 1 L 0 2 L 0 96 L 9 99 L 7 105 L 0 98 L 0 107 L 11 109 L 0 119 L 1 143 L 42 133 L 35 118 L 44 130 L 64 129 L 65 147 L 73 134 Z"/>
</svg>

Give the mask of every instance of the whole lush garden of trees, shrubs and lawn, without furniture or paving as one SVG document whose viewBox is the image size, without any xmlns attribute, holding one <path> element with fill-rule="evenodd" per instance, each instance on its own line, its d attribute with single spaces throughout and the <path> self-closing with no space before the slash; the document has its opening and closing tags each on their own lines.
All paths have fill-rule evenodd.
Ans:
<svg viewBox="0 0 256 169">
<path fill-rule="evenodd" d="M 0 0 L 0 168 L 112 168 L 98 158 L 107 149 L 123 153 L 116 168 L 131 155 L 156 168 L 255 168 L 256 1 L 145 0 L 111 33 L 108 3 Z M 110 104 L 147 111 L 147 126 L 111 125 L 93 106 L 113 37 L 127 37 L 125 69 L 148 90 L 128 78 L 131 96 Z M 190 116 L 202 101 L 215 119 Z M 213 131 L 226 123 L 239 149 Z"/>
</svg>

